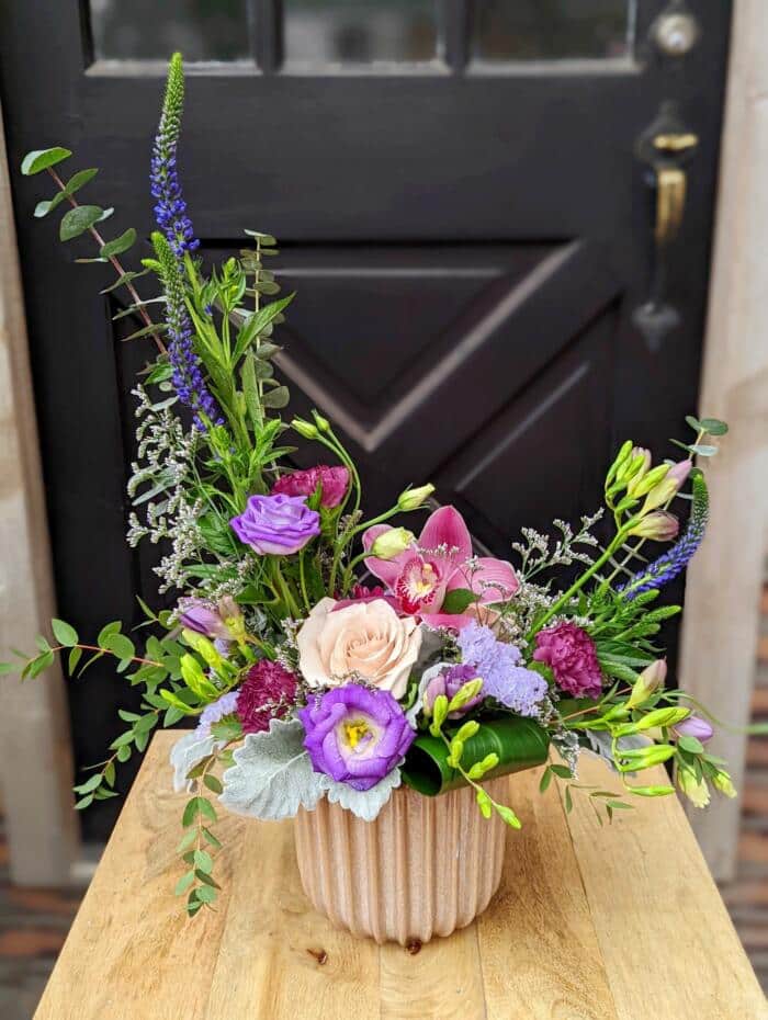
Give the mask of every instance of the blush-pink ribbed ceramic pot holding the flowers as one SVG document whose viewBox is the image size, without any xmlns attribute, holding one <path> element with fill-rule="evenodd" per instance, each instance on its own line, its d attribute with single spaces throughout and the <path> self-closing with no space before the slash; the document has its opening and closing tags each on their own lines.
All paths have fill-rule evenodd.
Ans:
<svg viewBox="0 0 768 1020">
<path fill-rule="evenodd" d="M 504 801 L 508 778 L 485 784 Z M 407 945 L 464 928 L 501 881 L 506 826 L 485 819 L 464 786 L 427 797 L 408 786 L 375 821 L 323 800 L 294 823 L 304 892 L 316 910 L 358 938 Z"/>
</svg>

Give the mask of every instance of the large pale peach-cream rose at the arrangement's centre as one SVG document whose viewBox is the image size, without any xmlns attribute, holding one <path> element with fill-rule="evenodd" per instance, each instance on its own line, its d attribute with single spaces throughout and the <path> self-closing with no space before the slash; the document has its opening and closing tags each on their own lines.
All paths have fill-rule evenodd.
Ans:
<svg viewBox="0 0 768 1020">
<path fill-rule="evenodd" d="M 298 668 L 309 687 L 338 687 L 361 677 L 402 698 L 421 647 L 411 616 L 400 619 L 383 599 L 332 612 L 321 599 L 297 635 Z"/>
</svg>

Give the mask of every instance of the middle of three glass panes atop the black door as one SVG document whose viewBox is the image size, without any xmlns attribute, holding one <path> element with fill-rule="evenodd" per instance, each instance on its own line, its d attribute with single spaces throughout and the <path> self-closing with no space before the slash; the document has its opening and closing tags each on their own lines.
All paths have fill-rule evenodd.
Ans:
<svg viewBox="0 0 768 1020">
<path fill-rule="evenodd" d="M 289 64 L 413 64 L 436 55 L 433 0 L 285 0 Z"/>
</svg>

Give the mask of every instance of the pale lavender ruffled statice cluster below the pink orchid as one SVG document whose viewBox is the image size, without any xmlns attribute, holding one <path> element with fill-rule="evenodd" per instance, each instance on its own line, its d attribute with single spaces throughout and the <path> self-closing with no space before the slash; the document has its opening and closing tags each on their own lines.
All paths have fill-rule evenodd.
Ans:
<svg viewBox="0 0 768 1020">
<path fill-rule="evenodd" d="M 462 662 L 483 678 L 483 696 L 495 698 L 518 715 L 537 715 L 546 694 L 541 673 L 520 665 L 522 656 L 515 645 L 499 641 L 490 627 L 474 620 L 459 632 Z"/>
</svg>

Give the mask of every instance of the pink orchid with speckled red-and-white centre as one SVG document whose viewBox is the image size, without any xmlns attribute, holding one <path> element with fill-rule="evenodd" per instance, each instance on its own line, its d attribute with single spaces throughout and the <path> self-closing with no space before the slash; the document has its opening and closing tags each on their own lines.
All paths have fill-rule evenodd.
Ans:
<svg viewBox="0 0 768 1020">
<path fill-rule="evenodd" d="M 363 548 L 370 549 L 388 529 L 388 524 L 369 528 Z M 454 507 L 436 510 L 403 553 L 392 559 L 369 556 L 365 566 L 386 585 L 400 612 L 419 616 L 433 627 L 460 630 L 477 619 L 479 605 L 509 599 L 520 583 L 506 560 L 473 556 L 468 529 Z M 441 612 L 448 593 L 460 588 L 474 592 L 476 601 L 463 613 Z"/>
</svg>

